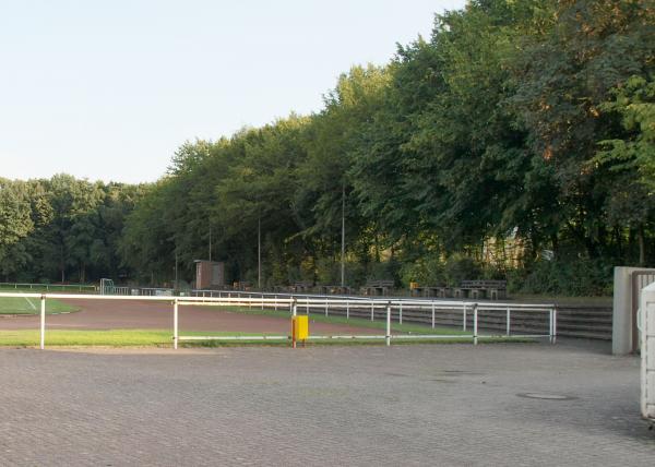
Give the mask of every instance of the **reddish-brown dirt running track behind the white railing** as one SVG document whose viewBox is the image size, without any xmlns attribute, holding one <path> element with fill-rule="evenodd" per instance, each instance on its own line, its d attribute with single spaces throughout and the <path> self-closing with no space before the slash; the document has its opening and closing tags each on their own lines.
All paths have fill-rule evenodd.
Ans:
<svg viewBox="0 0 655 467">
<path fill-rule="evenodd" d="M 49 330 L 172 330 L 172 304 L 131 300 L 62 300 L 81 309 L 76 313 L 48 314 Z M 35 330 L 39 316 L 0 318 L 0 330 Z M 288 319 L 246 314 L 207 307 L 179 307 L 180 331 L 288 334 Z M 382 334 L 380 330 L 314 323 L 312 334 Z"/>
</svg>

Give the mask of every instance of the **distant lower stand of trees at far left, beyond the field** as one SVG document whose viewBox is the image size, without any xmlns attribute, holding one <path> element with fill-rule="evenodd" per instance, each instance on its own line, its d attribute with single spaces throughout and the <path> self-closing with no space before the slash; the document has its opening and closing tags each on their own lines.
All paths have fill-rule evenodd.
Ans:
<svg viewBox="0 0 655 467">
<path fill-rule="evenodd" d="M 119 243 L 143 187 L 58 175 L 0 179 L 0 277 L 17 282 L 92 282 L 126 276 Z"/>
</svg>

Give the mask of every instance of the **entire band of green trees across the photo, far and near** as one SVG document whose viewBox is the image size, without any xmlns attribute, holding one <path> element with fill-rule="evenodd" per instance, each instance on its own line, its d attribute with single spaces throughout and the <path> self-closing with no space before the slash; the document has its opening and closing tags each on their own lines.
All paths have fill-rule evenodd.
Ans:
<svg viewBox="0 0 655 467">
<path fill-rule="evenodd" d="M 344 214 L 350 285 L 607 291 L 612 265 L 655 263 L 654 45 L 652 0 L 472 1 L 318 113 L 182 145 L 147 190 L 2 182 L 2 272 L 190 280 L 211 244 L 257 284 L 261 235 L 262 287 L 337 284 Z"/>
</svg>

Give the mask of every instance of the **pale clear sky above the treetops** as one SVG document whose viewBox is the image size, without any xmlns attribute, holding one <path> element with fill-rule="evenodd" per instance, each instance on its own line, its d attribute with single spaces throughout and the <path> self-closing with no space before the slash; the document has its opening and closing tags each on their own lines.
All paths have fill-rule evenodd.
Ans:
<svg viewBox="0 0 655 467">
<path fill-rule="evenodd" d="M 0 177 L 155 181 L 186 141 L 320 111 L 464 3 L 0 1 Z"/>
</svg>

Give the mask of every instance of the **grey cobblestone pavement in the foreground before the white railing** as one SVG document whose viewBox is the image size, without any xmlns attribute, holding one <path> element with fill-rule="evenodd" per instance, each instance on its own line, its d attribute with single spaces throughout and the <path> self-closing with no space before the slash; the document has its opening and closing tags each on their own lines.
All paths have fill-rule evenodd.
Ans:
<svg viewBox="0 0 655 467">
<path fill-rule="evenodd" d="M 639 359 L 586 346 L 0 350 L 2 466 L 654 459 Z"/>
</svg>

